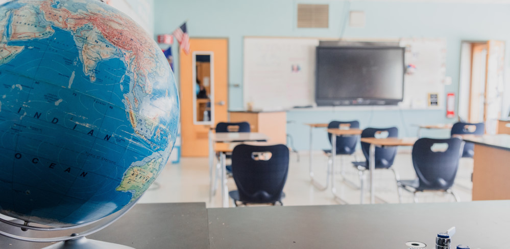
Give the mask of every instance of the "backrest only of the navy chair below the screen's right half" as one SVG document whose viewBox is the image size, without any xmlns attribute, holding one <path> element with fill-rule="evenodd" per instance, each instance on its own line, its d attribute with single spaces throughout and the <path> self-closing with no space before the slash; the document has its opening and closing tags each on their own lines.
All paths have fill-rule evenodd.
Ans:
<svg viewBox="0 0 510 249">
<path fill-rule="evenodd" d="M 375 137 L 378 133 L 388 133 L 388 137 L 398 137 L 398 128 L 366 128 L 361 132 L 361 137 Z M 369 165 L 370 144 L 361 142 L 361 151 L 367 159 Z M 375 148 L 375 168 L 390 168 L 393 165 L 395 156 L 397 155 L 397 147 L 376 147 Z"/>
</svg>

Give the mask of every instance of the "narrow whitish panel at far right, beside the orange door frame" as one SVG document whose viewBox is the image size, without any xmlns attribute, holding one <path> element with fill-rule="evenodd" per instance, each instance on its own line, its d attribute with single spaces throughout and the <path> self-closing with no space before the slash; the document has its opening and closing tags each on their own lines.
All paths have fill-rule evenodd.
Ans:
<svg viewBox="0 0 510 249">
<path fill-rule="evenodd" d="M 483 120 L 485 122 L 485 132 L 487 134 L 497 134 L 503 102 L 505 42 L 491 40 L 487 47 Z"/>
</svg>

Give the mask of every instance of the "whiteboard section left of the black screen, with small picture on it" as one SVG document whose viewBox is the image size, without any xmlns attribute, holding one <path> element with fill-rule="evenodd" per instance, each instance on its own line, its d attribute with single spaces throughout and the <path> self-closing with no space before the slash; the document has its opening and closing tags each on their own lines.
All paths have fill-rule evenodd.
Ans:
<svg viewBox="0 0 510 249">
<path fill-rule="evenodd" d="M 245 37 L 245 107 L 279 110 L 314 104 L 318 38 Z"/>
</svg>

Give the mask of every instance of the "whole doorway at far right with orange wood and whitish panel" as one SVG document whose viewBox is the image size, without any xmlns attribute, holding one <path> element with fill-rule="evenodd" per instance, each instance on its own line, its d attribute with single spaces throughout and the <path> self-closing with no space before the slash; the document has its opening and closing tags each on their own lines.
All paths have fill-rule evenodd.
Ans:
<svg viewBox="0 0 510 249">
<path fill-rule="evenodd" d="M 494 40 L 461 44 L 459 118 L 484 123 L 487 134 L 497 133 L 501 117 L 504 49 L 504 42 Z"/>
</svg>

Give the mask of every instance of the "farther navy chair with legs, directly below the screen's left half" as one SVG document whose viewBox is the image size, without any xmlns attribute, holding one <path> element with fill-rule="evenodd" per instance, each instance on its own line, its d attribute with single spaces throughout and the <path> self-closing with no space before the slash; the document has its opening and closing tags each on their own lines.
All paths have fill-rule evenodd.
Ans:
<svg viewBox="0 0 510 249">
<path fill-rule="evenodd" d="M 328 129 L 330 128 L 342 128 L 346 127 L 348 129 L 359 129 L 359 122 L 358 121 L 331 121 L 328 124 Z M 332 134 L 328 132 L 328 139 L 329 144 L 331 144 L 331 137 Z M 332 146 L 331 148 L 336 148 L 336 155 L 352 155 L 354 152 L 356 152 L 356 145 L 359 141 L 359 135 L 343 135 L 336 137 L 336 146 Z M 330 165 L 332 163 L 332 151 L 331 150 L 323 150 L 324 153 L 328 156 L 328 169 L 330 168 Z M 356 156 L 356 154 L 354 154 Z M 357 158 L 355 158 L 357 161 Z M 343 174 L 344 172 L 344 165 L 343 161 L 341 160 L 340 169 Z M 332 172 L 334 174 L 334 172 Z"/>
</svg>

